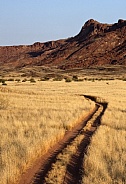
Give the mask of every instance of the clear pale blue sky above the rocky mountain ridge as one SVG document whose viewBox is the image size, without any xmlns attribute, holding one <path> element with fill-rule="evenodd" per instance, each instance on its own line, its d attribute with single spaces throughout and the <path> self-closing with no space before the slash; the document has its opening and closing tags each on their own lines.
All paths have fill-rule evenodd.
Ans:
<svg viewBox="0 0 126 184">
<path fill-rule="evenodd" d="M 126 0 L 0 0 L 0 46 L 72 37 L 89 19 L 126 19 Z"/>
</svg>

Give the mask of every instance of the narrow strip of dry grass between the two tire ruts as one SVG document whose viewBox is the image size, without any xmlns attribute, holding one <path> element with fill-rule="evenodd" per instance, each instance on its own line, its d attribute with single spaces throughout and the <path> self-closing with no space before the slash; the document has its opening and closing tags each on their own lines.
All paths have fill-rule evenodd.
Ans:
<svg viewBox="0 0 126 184">
<path fill-rule="evenodd" d="M 83 133 L 86 133 L 87 130 L 91 131 L 92 129 L 94 129 L 93 123 L 97 116 L 101 113 L 102 109 L 103 108 L 101 106 L 99 110 L 93 115 L 93 117 L 87 122 L 87 124 L 83 128 Z M 74 168 L 75 164 L 74 161 L 71 161 L 71 158 L 77 157 L 79 152 L 78 146 L 82 144 L 82 141 L 86 138 L 85 134 L 83 133 L 78 134 L 77 137 L 57 156 L 56 162 L 52 164 L 51 170 L 48 172 L 44 184 L 62 184 L 66 182 L 64 181 L 65 177 L 70 172 L 67 170 L 68 165 L 71 163 L 71 167 Z M 71 173 L 68 174 L 69 177 L 70 174 Z"/>
</svg>

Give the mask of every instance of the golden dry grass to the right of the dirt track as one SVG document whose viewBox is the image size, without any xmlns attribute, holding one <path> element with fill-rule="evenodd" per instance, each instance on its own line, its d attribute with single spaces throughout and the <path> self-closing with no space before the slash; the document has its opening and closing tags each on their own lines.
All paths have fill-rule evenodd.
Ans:
<svg viewBox="0 0 126 184">
<path fill-rule="evenodd" d="M 96 89 L 97 90 L 97 89 Z M 126 83 L 109 82 L 99 96 L 108 102 L 84 161 L 84 184 L 126 183 Z"/>
</svg>

